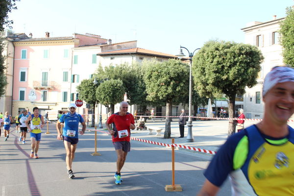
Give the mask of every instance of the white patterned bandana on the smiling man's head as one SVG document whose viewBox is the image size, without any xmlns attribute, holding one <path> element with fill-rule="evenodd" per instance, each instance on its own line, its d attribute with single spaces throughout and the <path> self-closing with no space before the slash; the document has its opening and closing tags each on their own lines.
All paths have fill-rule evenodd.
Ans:
<svg viewBox="0 0 294 196">
<path fill-rule="evenodd" d="M 294 82 L 294 69 L 290 67 L 274 67 L 266 75 L 264 85 L 262 89 L 262 96 L 268 93 L 268 91 L 277 83 L 282 82 Z"/>
</svg>

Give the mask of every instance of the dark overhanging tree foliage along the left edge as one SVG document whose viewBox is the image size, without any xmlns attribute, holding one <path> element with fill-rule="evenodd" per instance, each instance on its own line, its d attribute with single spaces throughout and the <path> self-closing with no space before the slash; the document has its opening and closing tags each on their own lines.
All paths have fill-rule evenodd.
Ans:
<svg viewBox="0 0 294 196">
<path fill-rule="evenodd" d="M 16 9 L 15 1 L 16 0 L 1 0 L 0 2 L 0 32 L 4 30 L 4 25 L 11 27 L 11 24 L 13 24 L 13 21 L 8 20 L 8 13 L 11 12 L 12 9 Z M 5 88 L 7 85 L 7 78 L 4 72 L 5 56 L 2 55 L 4 41 L 5 39 L 0 38 L 0 97 L 5 94 Z"/>
</svg>

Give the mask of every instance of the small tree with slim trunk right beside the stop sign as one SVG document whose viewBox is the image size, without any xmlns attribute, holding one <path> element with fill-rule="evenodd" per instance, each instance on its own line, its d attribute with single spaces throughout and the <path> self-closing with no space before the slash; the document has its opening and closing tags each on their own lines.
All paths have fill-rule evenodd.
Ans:
<svg viewBox="0 0 294 196">
<path fill-rule="evenodd" d="M 86 101 L 88 104 L 93 106 L 93 116 L 91 127 L 95 126 L 95 105 L 97 103 L 96 89 L 97 86 L 93 83 L 94 79 L 84 79 L 80 85 L 76 87 L 79 99 Z"/>
</svg>

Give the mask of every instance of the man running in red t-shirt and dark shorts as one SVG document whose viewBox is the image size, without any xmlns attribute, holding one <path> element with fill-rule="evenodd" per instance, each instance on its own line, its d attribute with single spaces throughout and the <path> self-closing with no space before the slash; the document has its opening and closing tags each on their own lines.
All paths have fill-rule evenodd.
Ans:
<svg viewBox="0 0 294 196">
<path fill-rule="evenodd" d="M 127 152 L 130 151 L 130 129 L 135 129 L 135 121 L 132 114 L 127 112 L 128 103 L 123 101 L 120 103 L 120 111 L 111 115 L 105 123 L 106 128 L 112 135 L 112 142 L 117 152 L 117 172 L 115 173 L 115 183 L 121 184 L 121 169 L 125 162 Z M 110 124 L 112 127 L 110 128 Z"/>
</svg>

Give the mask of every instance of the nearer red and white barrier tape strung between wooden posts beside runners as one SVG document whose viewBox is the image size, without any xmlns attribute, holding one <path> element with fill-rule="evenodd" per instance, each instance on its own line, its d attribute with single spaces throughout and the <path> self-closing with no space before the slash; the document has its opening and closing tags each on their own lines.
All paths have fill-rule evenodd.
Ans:
<svg viewBox="0 0 294 196">
<path fill-rule="evenodd" d="M 104 130 L 89 129 L 89 128 L 86 128 L 86 130 L 88 130 L 88 131 L 97 131 L 97 132 L 100 132 L 100 133 L 105 133 L 105 134 L 110 135 L 110 133 L 108 131 L 104 131 Z M 172 146 L 173 147 L 180 147 L 180 148 L 185 148 L 185 149 L 194 150 L 194 151 L 198 151 L 198 152 L 203 152 L 203 153 L 207 153 L 207 154 L 216 154 L 217 153 L 216 151 L 212 151 L 212 150 L 205 150 L 205 149 L 196 148 L 196 147 L 188 147 L 188 146 L 179 145 L 179 144 L 165 144 L 165 143 L 161 143 L 161 142 L 153 142 L 153 141 L 134 138 L 134 137 L 130 137 L 130 139 L 135 140 L 135 141 L 139 141 L 139 142 L 148 143 L 148 144 L 164 146 L 164 147 L 172 147 Z"/>
</svg>

